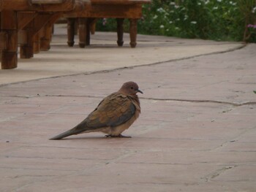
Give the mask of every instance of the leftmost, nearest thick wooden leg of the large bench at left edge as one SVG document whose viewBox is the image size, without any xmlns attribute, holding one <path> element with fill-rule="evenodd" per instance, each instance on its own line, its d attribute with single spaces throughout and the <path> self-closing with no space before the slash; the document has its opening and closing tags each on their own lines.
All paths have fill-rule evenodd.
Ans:
<svg viewBox="0 0 256 192">
<path fill-rule="evenodd" d="M 1 69 L 18 65 L 18 17 L 15 11 L 1 11 L 1 31 L 7 33 L 7 48 L 1 52 Z"/>
</svg>

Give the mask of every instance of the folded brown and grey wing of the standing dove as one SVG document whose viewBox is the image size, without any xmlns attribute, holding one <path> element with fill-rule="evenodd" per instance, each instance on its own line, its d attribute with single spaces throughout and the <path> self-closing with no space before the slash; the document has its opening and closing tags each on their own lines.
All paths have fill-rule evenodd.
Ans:
<svg viewBox="0 0 256 192">
<path fill-rule="evenodd" d="M 113 93 L 103 99 L 98 107 L 84 120 L 87 128 L 118 126 L 135 115 L 136 107 L 120 93 Z"/>
</svg>

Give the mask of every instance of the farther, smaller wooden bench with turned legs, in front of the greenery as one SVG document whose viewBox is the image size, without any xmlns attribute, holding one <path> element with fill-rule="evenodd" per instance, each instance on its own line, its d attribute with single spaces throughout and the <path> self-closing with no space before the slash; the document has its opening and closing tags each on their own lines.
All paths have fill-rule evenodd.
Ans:
<svg viewBox="0 0 256 192">
<path fill-rule="evenodd" d="M 75 22 L 78 22 L 79 46 L 85 47 L 90 44 L 91 23 L 95 18 L 116 18 L 117 20 L 117 44 L 122 46 L 124 18 L 129 19 L 130 46 L 136 46 L 137 21 L 142 16 L 142 5 L 150 3 L 151 0 L 91 0 L 86 4 L 82 12 L 69 12 L 64 16 L 67 18 L 68 45 L 74 45 Z"/>
</svg>

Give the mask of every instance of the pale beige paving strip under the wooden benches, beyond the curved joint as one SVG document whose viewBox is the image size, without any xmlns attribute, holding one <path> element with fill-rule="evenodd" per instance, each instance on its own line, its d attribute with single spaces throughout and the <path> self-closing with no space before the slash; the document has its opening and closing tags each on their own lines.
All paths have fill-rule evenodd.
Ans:
<svg viewBox="0 0 256 192">
<path fill-rule="evenodd" d="M 116 33 L 97 32 L 91 36 L 91 46 L 81 49 L 78 47 L 78 37 L 75 37 L 74 47 L 67 46 L 67 25 L 56 24 L 54 31 L 49 51 L 41 51 L 30 59 L 19 58 L 17 69 L 0 70 L 0 84 L 155 64 L 244 46 L 241 42 L 138 34 L 138 45 L 133 49 L 129 47 L 129 34 L 124 34 L 124 46 L 118 47 Z"/>
</svg>

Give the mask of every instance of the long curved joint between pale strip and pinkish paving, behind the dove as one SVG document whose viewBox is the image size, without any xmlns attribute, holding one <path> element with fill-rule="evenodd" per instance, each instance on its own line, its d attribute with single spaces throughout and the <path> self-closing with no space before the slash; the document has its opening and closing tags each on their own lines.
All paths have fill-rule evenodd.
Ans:
<svg viewBox="0 0 256 192">
<path fill-rule="evenodd" d="M 155 62 L 155 63 L 152 63 L 152 64 L 142 64 L 142 65 L 136 65 L 136 66 L 122 66 L 122 67 L 117 67 L 115 69 L 97 70 L 97 71 L 94 71 L 94 72 L 81 72 L 81 73 L 76 73 L 76 74 L 64 74 L 64 75 L 57 75 L 57 76 L 53 76 L 53 77 L 42 77 L 42 78 L 38 78 L 38 79 L 34 79 L 34 80 L 24 80 L 24 81 L 20 81 L 20 82 L 4 83 L 4 84 L 0 84 L 0 88 L 4 87 L 4 86 L 7 86 L 7 85 L 16 85 L 16 84 L 23 83 L 23 82 L 31 82 L 31 81 L 38 81 L 38 80 L 45 80 L 45 79 L 54 79 L 54 78 L 59 78 L 59 77 L 73 77 L 73 76 L 77 76 L 77 75 L 80 75 L 80 74 L 89 75 L 89 74 L 101 74 L 101 73 L 108 73 L 108 72 L 116 72 L 118 70 L 133 69 L 133 68 L 137 68 L 137 67 L 141 67 L 141 66 L 154 66 L 154 65 L 165 64 L 165 63 L 169 63 L 169 62 L 183 61 L 183 60 L 187 60 L 187 59 L 190 59 L 190 58 L 198 58 L 200 56 L 229 53 L 229 52 L 233 52 L 233 51 L 236 51 L 236 50 L 240 50 L 240 49 L 246 47 L 246 45 L 247 45 L 246 43 L 243 43 L 241 45 L 238 45 L 237 47 L 230 48 L 228 50 L 222 50 L 222 51 L 216 51 L 216 52 L 212 52 L 212 53 L 192 55 L 192 56 L 183 57 L 183 58 L 174 58 L 174 59 L 170 59 L 170 60 L 166 60 L 166 61 Z"/>
</svg>

